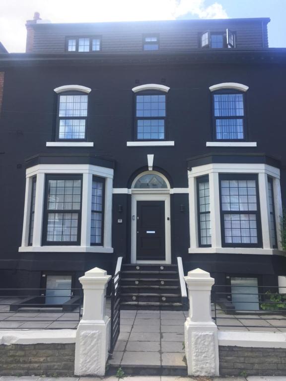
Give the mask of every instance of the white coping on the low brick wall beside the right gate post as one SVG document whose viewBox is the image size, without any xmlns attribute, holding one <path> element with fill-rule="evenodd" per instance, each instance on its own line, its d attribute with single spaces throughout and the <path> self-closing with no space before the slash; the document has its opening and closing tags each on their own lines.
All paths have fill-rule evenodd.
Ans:
<svg viewBox="0 0 286 381">
<path fill-rule="evenodd" d="M 218 345 L 252 348 L 286 348 L 286 332 L 217 332 Z"/>
</svg>

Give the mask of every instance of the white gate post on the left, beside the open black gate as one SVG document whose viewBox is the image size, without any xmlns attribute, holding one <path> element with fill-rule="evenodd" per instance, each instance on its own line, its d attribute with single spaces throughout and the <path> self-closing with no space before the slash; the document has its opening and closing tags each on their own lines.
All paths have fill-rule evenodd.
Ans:
<svg viewBox="0 0 286 381">
<path fill-rule="evenodd" d="M 74 374 L 104 376 L 110 339 L 105 316 L 106 287 L 111 275 L 95 267 L 79 278 L 83 288 L 83 315 L 76 330 Z"/>
</svg>

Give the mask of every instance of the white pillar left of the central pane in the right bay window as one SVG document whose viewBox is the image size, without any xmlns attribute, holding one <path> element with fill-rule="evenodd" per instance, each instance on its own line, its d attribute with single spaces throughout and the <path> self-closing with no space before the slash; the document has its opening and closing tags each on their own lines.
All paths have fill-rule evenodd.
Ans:
<svg viewBox="0 0 286 381">
<path fill-rule="evenodd" d="M 218 173 L 209 174 L 212 247 L 221 248 Z"/>
</svg>

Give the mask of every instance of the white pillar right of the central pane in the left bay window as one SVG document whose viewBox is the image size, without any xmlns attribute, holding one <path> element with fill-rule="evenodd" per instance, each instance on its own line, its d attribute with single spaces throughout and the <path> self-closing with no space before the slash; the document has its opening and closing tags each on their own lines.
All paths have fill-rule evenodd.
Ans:
<svg viewBox="0 0 286 381">
<path fill-rule="evenodd" d="M 82 205 L 81 205 L 81 245 L 90 246 L 92 174 L 82 176 Z"/>
</svg>

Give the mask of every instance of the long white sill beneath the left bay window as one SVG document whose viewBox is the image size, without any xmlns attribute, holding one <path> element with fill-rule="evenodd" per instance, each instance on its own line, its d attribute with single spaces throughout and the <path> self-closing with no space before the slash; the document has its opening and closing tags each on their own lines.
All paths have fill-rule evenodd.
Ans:
<svg viewBox="0 0 286 381">
<path fill-rule="evenodd" d="M 113 248 L 103 246 L 20 246 L 20 253 L 113 253 Z"/>
</svg>

